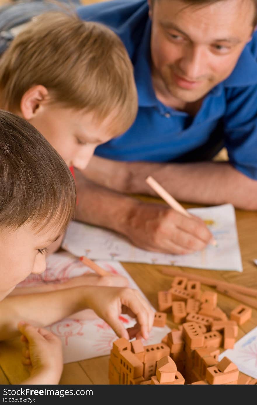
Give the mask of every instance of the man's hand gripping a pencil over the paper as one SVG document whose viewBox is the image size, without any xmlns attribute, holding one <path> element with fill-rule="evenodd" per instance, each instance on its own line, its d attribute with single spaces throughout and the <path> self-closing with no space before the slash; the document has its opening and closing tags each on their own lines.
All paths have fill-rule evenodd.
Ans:
<svg viewBox="0 0 257 405">
<path fill-rule="evenodd" d="M 141 202 L 127 216 L 124 234 L 142 249 L 169 254 L 202 250 L 212 239 L 200 218 L 186 217 L 165 205 Z"/>
</svg>

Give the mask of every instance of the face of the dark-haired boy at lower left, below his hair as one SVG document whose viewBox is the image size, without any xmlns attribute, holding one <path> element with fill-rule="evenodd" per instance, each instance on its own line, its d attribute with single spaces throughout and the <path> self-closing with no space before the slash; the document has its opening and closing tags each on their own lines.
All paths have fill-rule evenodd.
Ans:
<svg viewBox="0 0 257 405">
<path fill-rule="evenodd" d="M 30 224 L 0 229 L 0 301 L 28 275 L 45 271 L 47 247 L 58 236 L 54 227 L 36 232 Z"/>
</svg>

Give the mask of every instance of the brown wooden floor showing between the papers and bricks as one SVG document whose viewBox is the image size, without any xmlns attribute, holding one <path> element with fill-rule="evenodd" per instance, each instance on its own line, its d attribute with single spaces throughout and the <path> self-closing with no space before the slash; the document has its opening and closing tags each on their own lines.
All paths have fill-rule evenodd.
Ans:
<svg viewBox="0 0 257 405">
<path fill-rule="evenodd" d="M 257 213 L 237 211 L 236 217 L 244 268 L 243 273 L 182 268 L 185 273 L 195 273 L 257 288 L 257 266 L 253 263 L 253 259 L 257 258 Z M 172 280 L 171 277 L 164 276 L 161 273 L 161 269 L 165 266 L 138 263 L 123 263 L 123 266 L 134 278 L 153 306 L 157 308 L 157 292 L 167 290 Z M 203 286 L 202 289 L 211 288 Z M 227 315 L 237 304 L 238 301 L 223 294 L 218 296 L 218 305 Z M 167 324 L 172 327 L 174 324 L 170 319 L 170 314 L 168 314 Z M 257 310 L 253 310 L 251 321 L 240 327 L 238 339 L 255 326 L 257 326 Z M 20 362 L 20 347 L 19 339 L 0 343 L 0 384 L 17 384 L 28 375 L 25 367 Z M 104 356 L 65 364 L 60 384 L 108 384 L 108 358 L 109 356 Z"/>
</svg>

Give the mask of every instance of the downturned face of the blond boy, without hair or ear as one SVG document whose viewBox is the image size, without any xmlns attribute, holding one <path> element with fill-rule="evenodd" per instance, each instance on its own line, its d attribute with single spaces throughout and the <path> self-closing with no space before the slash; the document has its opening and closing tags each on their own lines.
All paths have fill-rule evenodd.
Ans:
<svg viewBox="0 0 257 405">
<path fill-rule="evenodd" d="M 82 170 L 96 147 L 114 136 L 109 129 L 112 117 L 100 124 L 93 118 L 92 113 L 45 104 L 29 122 L 45 136 L 68 166 Z"/>
</svg>

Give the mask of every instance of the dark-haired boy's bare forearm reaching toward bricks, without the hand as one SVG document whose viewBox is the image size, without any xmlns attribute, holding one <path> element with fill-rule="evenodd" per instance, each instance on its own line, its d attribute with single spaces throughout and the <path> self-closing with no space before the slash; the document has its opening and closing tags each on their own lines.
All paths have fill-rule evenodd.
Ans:
<svg viewBox="0 0 257 405">
<path fill-rule="evenodd" d="M 92 287 L 8 296 L 0 302 L 0 340 L 10 339 L 19 332 L 19 321 L 33 326 L 47 326 L 60 319 L 86 309 L 87 296 Z"/>
</svg>

